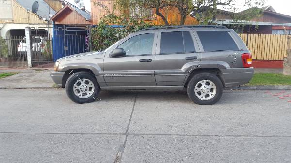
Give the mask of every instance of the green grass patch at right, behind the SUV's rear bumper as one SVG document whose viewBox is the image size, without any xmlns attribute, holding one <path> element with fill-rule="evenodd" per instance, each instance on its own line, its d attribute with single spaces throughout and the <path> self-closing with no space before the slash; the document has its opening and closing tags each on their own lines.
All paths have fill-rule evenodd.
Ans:
<svg viewBox="0 0 291 163">
<path fill-rule="evenodd" d="M 291 85 L 291 76 L 275 73 L 255 73 L 247 85 Z"/>
</svg>

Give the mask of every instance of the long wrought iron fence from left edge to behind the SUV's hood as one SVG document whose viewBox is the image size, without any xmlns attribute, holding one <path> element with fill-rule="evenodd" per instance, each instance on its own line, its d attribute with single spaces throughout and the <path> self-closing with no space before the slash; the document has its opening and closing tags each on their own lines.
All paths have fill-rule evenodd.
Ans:
<svg viewBox="0 0 291 163">
<path fill-rule="evenodd" d="M 55 25 L 46 30 L 31 30 L 31 49 L 26 47 L 25 36 L 0 38 L 0 66 L 27 67 L 27 51 L 31 51 L 32 67 L 53 67 L 62 57 L 105 50 L 120 38 L 96 37 L 91 26 Z"/>
</svg>

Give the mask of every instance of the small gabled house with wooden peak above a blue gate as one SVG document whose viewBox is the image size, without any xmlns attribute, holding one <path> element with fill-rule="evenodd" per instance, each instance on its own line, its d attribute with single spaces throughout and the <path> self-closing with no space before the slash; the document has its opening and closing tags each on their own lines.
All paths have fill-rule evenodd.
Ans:
<svg viewBox="0 0 291 163">
<path fill-rule="evenodd" d="M 90 51 L 90 12 L 67 3 L 51 20 L 53 60 Z"/>
</svg>

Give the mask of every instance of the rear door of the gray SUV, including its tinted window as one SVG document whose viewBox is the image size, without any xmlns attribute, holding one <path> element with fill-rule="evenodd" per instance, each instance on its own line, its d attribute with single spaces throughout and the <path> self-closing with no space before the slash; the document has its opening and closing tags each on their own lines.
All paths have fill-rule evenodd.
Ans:
<svg viewBox="0 0 291 163">
<path fill-rule="evenodd" d="M 156 53 L 158 86 L 181 86 L 190 70 L 200 65 L 201 53 L 191 29 L 160 30 Z"/>
</svg>

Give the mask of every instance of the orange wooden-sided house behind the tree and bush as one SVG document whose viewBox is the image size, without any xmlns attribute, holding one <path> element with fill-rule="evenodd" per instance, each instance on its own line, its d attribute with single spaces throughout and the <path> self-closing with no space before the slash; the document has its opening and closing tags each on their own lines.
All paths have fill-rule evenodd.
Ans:
<svg viewBox="0 0 291 163">
<path fill-rule="evenodd" d="M 114 12 L 115 15 L 121 15 L 119 10 L 114 9 L 114 0 L 91 0 L 91 14 L 92 24 L 96 25 L 100 19 L 109 13 Z M 164 21 L 160 16 L 155 14 L 155 9 L 144 9 L 144 11 L 138 11 L 138 8 L 129 11 L 131 17 L 143 19 L 145 22 L 152 23 L 155 25 L 164 25 Z M 178 25 L 180 22 L 180 14 L 177 8 L 165 7 L 160 11 L 167 19 L 169 24 Z M 197 20 L 187 15 L 186 25 L 198 24 Z"/>
</svg>

